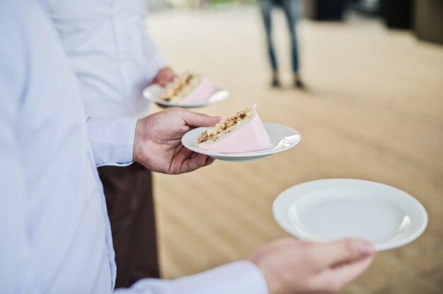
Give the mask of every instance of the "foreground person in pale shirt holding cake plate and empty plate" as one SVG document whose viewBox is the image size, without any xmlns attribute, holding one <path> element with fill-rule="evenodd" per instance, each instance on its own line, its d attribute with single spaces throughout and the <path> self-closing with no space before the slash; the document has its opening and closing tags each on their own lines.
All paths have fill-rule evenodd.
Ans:
<svg viewBox="0 0 443 294">
<path fill-rule="evenodd" d="M 39 4 L 1 0 L 0 21 L 0 293 L 111 293 L 114 252 L 96 165 L 195 170 L 212 160 L 180 136 L 219 117 L 171 109 L 86 121 L 76 76 Z M 364 240 L 287 238 L 243 261 L 115 293 L 329 293 L 373 258 Z"/>
</svg>

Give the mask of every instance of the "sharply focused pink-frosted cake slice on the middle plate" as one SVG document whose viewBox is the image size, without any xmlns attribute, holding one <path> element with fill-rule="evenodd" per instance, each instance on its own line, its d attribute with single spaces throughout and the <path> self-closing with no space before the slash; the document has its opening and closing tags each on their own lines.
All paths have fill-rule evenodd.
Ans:
<svg viewBox="0 0 443 294">
<path fill-rule="evenodd" d="M 271 143 L 255 106 L 204 131 L 197 147 L 217 153 L 239 153 L 270 148 Z"/>
</svg>

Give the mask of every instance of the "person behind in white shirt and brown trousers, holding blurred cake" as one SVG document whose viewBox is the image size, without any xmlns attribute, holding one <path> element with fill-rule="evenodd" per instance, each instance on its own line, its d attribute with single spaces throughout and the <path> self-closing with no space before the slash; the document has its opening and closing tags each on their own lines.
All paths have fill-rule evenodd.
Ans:
<svg viewBox="0 0 443 294">
<path fill-rule="evenodd" d="M 79 80 L 86 114 L 145 117 L 142 90 L 176 74 L 146 31 L 146 0 L 44 0 Z M 151 172 L 139 163 L 98 168 L 113 232 L 117 286 L 159 278 Z"/>
</svg>

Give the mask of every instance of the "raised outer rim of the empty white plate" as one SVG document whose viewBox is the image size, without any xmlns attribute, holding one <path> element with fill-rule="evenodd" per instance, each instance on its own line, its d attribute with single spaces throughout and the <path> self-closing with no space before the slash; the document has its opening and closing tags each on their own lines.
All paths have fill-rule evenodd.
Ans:
<svg viewBox="0 0 443 294">
<path fill-rule="evenodd" d="M 296 189 L 296 187 L 301 187 L 302 185 L 310 185 L 316 182 L 338 182 L 338 181 L 347 181 L 347 182 L 360 182 L 360 183 L 365 183 L 365 184 L 375 184 L 379 187 L 385 187 L 388 189 L 393 189 L 397 192 L 400 192 L 399 195 L 401 195 L 401 197 L 405 197 L 408 198 L 414 205 L 415 208 L 417 208 L 418 213 L 420 214 L 420 216 L 422 217 L 422 223 L 420 225 L 420 227 L 413 231 L 410 235 L 400 239 L 400 240 L 396 240 L 393 242 L 384 242 L 381 244 L 374 244 L 374 247 L 376 249 L 376 251 L 384 251 L 387 249 L 394 249 L 397 247 L 401 247 L 403 245 L 407 245 L 410 242 L 413 242 L 414 240 L 416 240 L 418 237 L 420 237 L 420 235 L 422 235 L 422 233 L 425 232 L 426 228 L 427 228 L 427 223 L 429 221 L 429 217 L 427 216 L 427 211 L 425 206 L 423 206 L 420 201 L 418 201 L 418 199 L 416 199 L 414 196 L 412 196 L 411 194 L 409 194 L 408 192 L 403 191 L 402 189 L 398 189 L 396 187 L 393 187 L 389 184 L 384 184 L 381 182 L 374 182 L 371 180 L 362 180 L 362 179 L 353 179 L 353 178 L 324 178 L 324 179 L 318 179 L 318 180 L 311 180 L 308 182 L 301 182 L 299 184 L 294 184 L 291 187 L 288 187 L 287 189 L 284 189 L 282 192 L 280 192 L 280 194 L 277 195 L 277 197 L 275 197 L 273 203 L 272 203 L 272 216 L 274 217 L 275 221 L 277 222 L 277 224 L 280 226 L 280 228 L 282 228 L 286 233 L 288 233 L 289 235 L 292 235 L 294 237 L 297 237 L 299 240 L 306 240 L 306 241 L 313 241 L 313 242 L 327 242 L 327 241 L 318 241 L 318 240 L 312 240 L 309 237 L 304 236 L 303 234 L 299 234 L 296 235 L 294 233 L 293 230 L 290 230 L 289 228 L 287 228 L 287 225 L 284 222 L 284 220 L 282 219 L 283 217 L 279 215 L 278 213 L 278 209 L 280 207 L 277 207 L 280 205 L 280 203 L 282 202 L 282 199 L 284 199 L 284 197 L 286 196 L 287 192 L 289 192 L 289 190 L 291 189 Z M 303 195 L 303 194 L 302 194 Z M 298 197 L 302 196 L 293 196 L 294 199 L 297 199 Z M 286 196 L 289 197 L 289 196 Z"/>
</svg>

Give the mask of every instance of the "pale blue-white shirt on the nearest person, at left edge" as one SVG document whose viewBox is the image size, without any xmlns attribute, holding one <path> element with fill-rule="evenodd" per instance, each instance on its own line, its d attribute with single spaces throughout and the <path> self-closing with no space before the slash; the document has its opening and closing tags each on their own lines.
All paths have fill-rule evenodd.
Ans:
<svg viewBox="0 0 443 294">
<path fill-rule="evenodd" d="M 0 24 L 0 293 L 111 293 L 114 252 L 96 165 L 132 160 L 136 119 L 86 122 L 76 77 L 35 1 L 0 0 Z M 116 292 L 267 288 L 256 266 L 238 261 Z"/>
</svg>

